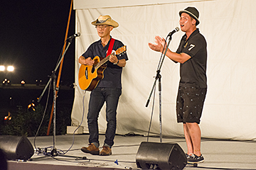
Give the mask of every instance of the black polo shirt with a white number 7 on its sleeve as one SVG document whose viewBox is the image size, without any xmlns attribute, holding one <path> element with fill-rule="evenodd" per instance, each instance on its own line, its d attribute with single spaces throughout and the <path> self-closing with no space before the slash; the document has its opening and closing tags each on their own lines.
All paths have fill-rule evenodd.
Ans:
<svg viewBox="0 0 256 170">
<path fill-rule="evenodd" d="M 207 64 L 206 39 L 199 33 L 198 28 L 186 40 L 183 35 L 177 53 L 186 53 L 191 56 L 189 60 L 181 64 L 180 86 L 199 86 L 207 88 L 206 64 Z"/>
</svg>

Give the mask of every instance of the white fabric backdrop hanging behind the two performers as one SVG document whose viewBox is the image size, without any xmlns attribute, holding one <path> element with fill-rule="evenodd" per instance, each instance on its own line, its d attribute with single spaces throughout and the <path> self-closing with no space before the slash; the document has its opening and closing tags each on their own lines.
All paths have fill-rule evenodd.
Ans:
<svg viewBox="0 0 256 170">
<path fill-rule="evenodd" d="M 75 99 L 72 111 L 73 125 L 82 121 L 87 131 L 87 103 L 90 92 L 78 85 L 78 57 L 87 47 L 100 38 L 92 21 L 100 15 L 110 15 L 119 23 L 112 30 L 112 37 L 127 45 L 129 60 L 122 74 L 122 96 L 117 109 L 117 133 L 147 134 L 154 103 L 151 134 L 159 134 L 159 93 L 149 98 L 160 53 L 153 52 L 148 42 L 155 35 L 166 35 L 178 26 L 178 11 L 196 6 L 200 12 L 198 25 L 208 42 L 208 94 L 201 118 L 202 137 L 256 140 L 256 57 L 251 46 L 256 38 L 255 0 L 215 1 L 103 1 L 75 0 Z M 170 49 L 176 51 L 181 36 L 172 36 Z M 161 118 L 163 135 L 183 136 L 183 126 L 176 123 L 176 93 L 179 81 L 179 64 L 167 57 L 161 69 Z M 154 102 L 155 101 L 155 102 Z M 84 113 L 84 115 L 83 115 Z M 99 118 L 100 132 L 106 128 L 105 108 Z"/>
</svg>

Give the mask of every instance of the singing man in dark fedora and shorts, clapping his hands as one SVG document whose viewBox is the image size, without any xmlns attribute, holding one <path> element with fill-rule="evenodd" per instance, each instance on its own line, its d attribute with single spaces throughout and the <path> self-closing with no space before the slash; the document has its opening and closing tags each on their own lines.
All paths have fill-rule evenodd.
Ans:
<svg viewBox="0 0 256 170">
<path fill-rule="evenodd" d="M 206 39 L 196 28 L 200 23 L 199 12 L 188 7 L 179 12 L 181 30 L 186 34 L 181 38 L 176 52 L 168 49 L 166 56 L 180 63 L 180 82 L 178 87 L 176 114 L 177 122 L 183 123 L 183 131 L 188 147 L 188 163 L 204 161 L 201 154 L 201 129 L 199 127 L 203 103 L 206 98 L 207 79 Z M 156 36 L 156 45 L 149 42 L 151 50 L 164 52 L 164 38 Z"/>
</svg>

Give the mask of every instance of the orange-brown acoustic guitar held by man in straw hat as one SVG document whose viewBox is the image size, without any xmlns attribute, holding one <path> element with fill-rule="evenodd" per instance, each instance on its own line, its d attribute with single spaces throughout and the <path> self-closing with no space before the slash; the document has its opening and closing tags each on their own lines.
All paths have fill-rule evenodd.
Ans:
<svg viewBox="0 0 256 170">
<path fill-rule="evenodd" d="M 111 55 L 122 55 L 126 51 L 126 45 L 119 47 Z M 82 90 L 92 91 L 104 77 L 104 70 L 107 68 L 106 62 L 110 60 L 110 55 L 107 57 L 94 57 L 95 63 L 90 65 L 82 64 L 78 73 L 78 83 Z"/>
</svg>

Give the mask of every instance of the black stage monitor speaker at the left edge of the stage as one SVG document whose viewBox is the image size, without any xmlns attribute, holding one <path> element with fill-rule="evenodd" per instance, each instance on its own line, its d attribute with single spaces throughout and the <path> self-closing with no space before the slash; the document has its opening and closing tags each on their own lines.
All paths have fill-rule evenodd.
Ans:
<svg viewBox="0 0 256 170">
<path fill-rule="evenodd" d="M 33 146 L 24 136 L 0 136 L 0 148 L 9 160 L 28 160 L 33 156 Z"/>
</svg>

